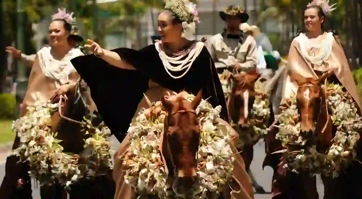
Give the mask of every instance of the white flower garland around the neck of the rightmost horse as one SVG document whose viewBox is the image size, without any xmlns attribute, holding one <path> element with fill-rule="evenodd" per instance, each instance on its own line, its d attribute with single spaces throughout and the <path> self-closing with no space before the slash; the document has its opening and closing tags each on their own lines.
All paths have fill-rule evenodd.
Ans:
<svg viewBox="0 0 362 199">
<path fill-rule="evenodd" d="M 354 160 L 354 148 L 359 140 L 358 131 L 362 128 L 362 118 L 357 114 L 353 98 L 342 90 L 338 84 L 327 86 L 327 103 L 331 107 L 333 125 L 337 126 L 331 147 L 325 153 L 316 150 L 316 146 L 295 151 L 295 146 L 304 146 L 307 140 L 299 135 L 300 123 L 296 97 L 287 99 L 278 116 L 279 132 L 276 138 L 286 148 L 287 162 L 285 168 L 294 172 L 308 171 L 311 174 L 323 174 L 337 177 L 339 172 Z"/>
</svg>

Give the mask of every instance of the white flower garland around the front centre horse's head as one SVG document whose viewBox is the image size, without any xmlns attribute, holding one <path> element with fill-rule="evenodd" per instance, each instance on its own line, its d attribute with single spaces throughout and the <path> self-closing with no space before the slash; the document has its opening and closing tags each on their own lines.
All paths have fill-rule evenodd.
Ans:
<svg viewBox="0 0 362 199">
<path fill-rule="evenodd" d="M 188 100 L 193 98 L 190 95 Z M 205 100 L 196 109 L 202 132 L 198 151 L 199 180 L 193 186 L 191 198 L 216 199 L 231 177 L 234 161 L 228 144 L 231 137 L 226 127 L 216 121 L 220 111 L 221 106 L 212 108 Z M 135 188 L 140 198 L 177 198 L 160 156 L 165 115 L 162 103 L 153 103 L 151 108 L 140 110 L 128 130 L 131 143 L 123 161 L 127 168 L 125 182 Z"/>
</svg>

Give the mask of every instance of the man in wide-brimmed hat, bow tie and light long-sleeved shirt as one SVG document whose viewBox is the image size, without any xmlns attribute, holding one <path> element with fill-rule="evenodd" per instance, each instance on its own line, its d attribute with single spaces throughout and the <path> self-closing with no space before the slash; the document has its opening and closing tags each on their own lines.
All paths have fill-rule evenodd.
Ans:
<svg viewBox="0 0 362 199">
<path fill-rule="evenodd" d="M 223 81 L 223 73 L 233 71 L 234 68 L 245 72 L 256 69 L 258 58 L 256 41 L 251 35 L 245 34 L 240 30 L 240 24 L 247 22 L 249 15 L 235 5 L 228 6 L 219 14 L 221 19 L 226 22 L 226 27 L 223 33 L 211 37 L 209 47 L 220 80 Z M 230 84 L 230 82 L 227 82 L 227 84 Z M 229 92 L 227 88 L 230 86 L 231 85 L 224 87 L 226 96 Z M 252 151 L 253 146 L 251 145 L 251 147 L 246 150 Z M 258 193 L 265 193 L 264 189 L 253 179 L 253 175 L 249 169 L 249 163 L 251 163 L 251 161 L 246 163 L 245 169 L 248 170 L 252 178 L 253 187 Z"/>
</svg>

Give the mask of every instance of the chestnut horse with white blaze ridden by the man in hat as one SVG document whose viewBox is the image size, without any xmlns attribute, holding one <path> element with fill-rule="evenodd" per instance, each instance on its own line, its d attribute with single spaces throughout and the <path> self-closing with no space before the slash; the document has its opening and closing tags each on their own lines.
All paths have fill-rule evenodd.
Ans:
<svg viewBox="0 0 362 199">
<path fill-rule="evenodd" d="M 251 130 L 253 131 L 250 114 L 255 100 L 254 85 L 259 78 L 260 74 L 256 69 L 253 69 L 248 73 L 241 72 L 230 76 L 233 83 L 228 99 L 228 111 L 231 121 L 236 126 L 234 126 L 234 128 L 239 134 Z M 240 135 L 240 137 L 243 136 Z M 256 143 L 245 143 L 242 148 L 241 156 L 245 161 L 245 169 L 252 179 L 253 187 L 258 193 L 265 193 L 264 189 L 255 181 L 250 170 L 250 165 L 254 156 L 253 146 L 255 144 Z"/>
</svg>

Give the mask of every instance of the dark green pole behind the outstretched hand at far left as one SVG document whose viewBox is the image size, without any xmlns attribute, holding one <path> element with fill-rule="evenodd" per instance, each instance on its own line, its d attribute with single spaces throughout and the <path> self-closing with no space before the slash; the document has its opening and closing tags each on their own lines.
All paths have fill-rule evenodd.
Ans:
<svg viewBox="0 0 362 199">
<path fill-rule="evenodd" d="M 17 48 L 24 52 L 24 9 L 22 8 L 22 0 L 16 0 L 17 10 Z M 17 62 L 17 80 L 16 80 L 16 105 L 17 114 L 20 114 L 20 103 L 25 97 L 26 89 L 28 87 L 28 77 L 26 77 L 26 67 L 21 62 Z"/>
</svg>

